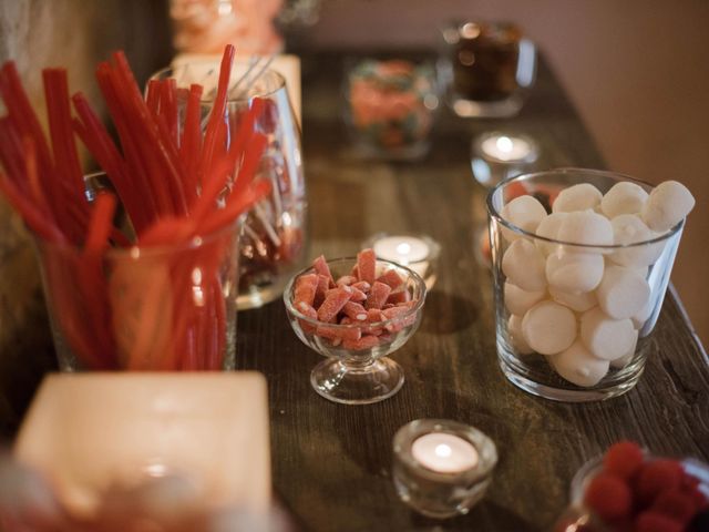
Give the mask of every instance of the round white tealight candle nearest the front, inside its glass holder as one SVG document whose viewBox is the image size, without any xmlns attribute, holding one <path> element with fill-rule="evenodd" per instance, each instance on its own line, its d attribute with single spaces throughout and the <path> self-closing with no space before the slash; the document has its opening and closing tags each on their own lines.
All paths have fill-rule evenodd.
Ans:
<svg viewBox="0 0 709 532">
<path fill-rule="evenodd" d="M 477 466 L 479 454 L 469 441 L 446 432 L 431 432 L 414 440 L 411 454 L 436 473 L 462 473 Z"/>
</svg>

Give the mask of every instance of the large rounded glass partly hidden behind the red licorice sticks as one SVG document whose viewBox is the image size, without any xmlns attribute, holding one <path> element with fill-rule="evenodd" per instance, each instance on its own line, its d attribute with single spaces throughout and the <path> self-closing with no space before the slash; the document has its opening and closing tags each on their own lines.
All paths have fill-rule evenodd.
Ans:
<svg viewBox="0 0 709 532">
<path fill-rule="evenodd" d="M 203 125 L 212 110 L 219 75 L 214 62 L 183 63 L 165 69 L 153 79 L 173 78 L 177 84 L 181 116 L 186 109 L 185 88 L 204 86 Z M 148 85 L 150 86 L 150 85 Z M 286 82 L 276 71 L 235 63 L 229 82 L 225 122 L 229 137 L 236 135 L 250 102 L 264 101 L 256 131 L 267 144 L 256 173 L 271 182 L 271 193 L 248 213 L 240 239 L 238 309 L 260 307 L 282 294 L 292 273 L 304 266 L 307 248 L 306 182 L 300 127 L 294 115 Z"/>
</svg>

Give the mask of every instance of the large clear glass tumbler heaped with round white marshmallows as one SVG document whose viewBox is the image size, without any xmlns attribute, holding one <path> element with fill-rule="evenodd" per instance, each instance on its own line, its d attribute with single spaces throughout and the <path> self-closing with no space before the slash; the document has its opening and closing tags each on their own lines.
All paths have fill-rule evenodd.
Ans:
<svg viewBox="0 0 709 532">
<path fill-rule="evenodd" d="M 496 342 L 507 379 L 559 401 L 631 389 L 693 205 L 676 181 L 653 187 L 583 168 L 493 188 Z"/>
</svg>

